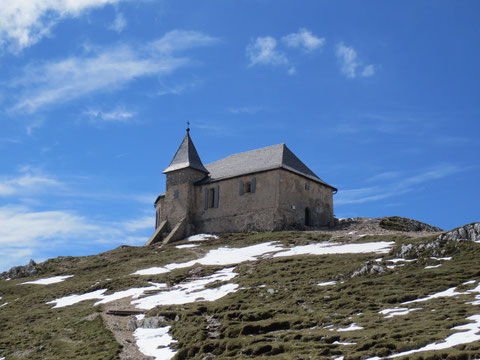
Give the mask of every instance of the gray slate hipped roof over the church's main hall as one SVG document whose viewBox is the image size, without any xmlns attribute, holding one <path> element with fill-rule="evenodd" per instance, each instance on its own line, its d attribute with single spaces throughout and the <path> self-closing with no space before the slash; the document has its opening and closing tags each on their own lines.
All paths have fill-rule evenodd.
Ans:
<svg viewBox="0 0 480 360">
<path fill-rule="evenodd" d="M 266 170 L 285 169 L 328 186 L 335 191 L 337 190 L 315 175 L 285 144 L 230 155 L 207 164 L 205 167 L 210 176 L 200 181 L 200 183 L 208 183 Z"/>
</svg>

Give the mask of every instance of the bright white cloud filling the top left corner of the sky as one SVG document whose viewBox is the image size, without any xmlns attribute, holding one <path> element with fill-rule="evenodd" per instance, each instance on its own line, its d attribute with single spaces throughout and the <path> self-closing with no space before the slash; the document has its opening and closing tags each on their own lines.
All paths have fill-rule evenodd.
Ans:
<svg viewBox="0 0 480 360">
<path fill-rule="evenodd" d="M 0 0 L 0 46 L 15 50 L 35 44 L 64 18 L 123 0 Z"/>
</svg>

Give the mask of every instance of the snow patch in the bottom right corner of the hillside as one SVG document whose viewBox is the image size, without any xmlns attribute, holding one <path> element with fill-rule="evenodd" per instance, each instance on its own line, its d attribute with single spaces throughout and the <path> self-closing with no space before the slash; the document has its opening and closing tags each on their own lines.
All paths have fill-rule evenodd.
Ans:
<svg viewBox="0 0 480 360">
<path fill-rule="evenodd" d="M 406 356 L 410 354 L 414 354 L 417 352 L 422 351 L 432 351 L 432 350 L 443 350 L 448 349 L 453 346 L 461 345 L 461 344 L 469 344 L 474 341 L 480 340 L 480 334 L 477 334 L 480 331 L 480 315 L 472 315 L 467 317 L 467 320 L 474 321 L 473 323 L 455 326 L 452 330 L 465 330 L 462 332 L 458 332 L 455 334 L 450 335 L 445 339 L 443 342 L 428 344 L 420 349 L 409 350 L 399 354 L 395 354 L 390 356 L 390 358 Z"/>
</svg>

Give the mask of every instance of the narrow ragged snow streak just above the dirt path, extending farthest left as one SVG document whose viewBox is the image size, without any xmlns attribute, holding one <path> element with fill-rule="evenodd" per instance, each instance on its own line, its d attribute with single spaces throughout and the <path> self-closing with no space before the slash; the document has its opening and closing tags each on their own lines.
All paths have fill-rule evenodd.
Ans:
<svg viewBox="0 0 480 360">
<path fill-rule="evenodd" d="M 117 291 L 116 293 L 110 295 L 104 295 L 107 289 L 100 289 L 96 291 L 92 291 L 83 295 L 69 295 L 63 298 L 55 299 L 52 301 L 47 302 L 47 304 L 55 304 L 53 308 L 60 308 L 65 306 L 70 306 L 77 304 L 81 301 L 85 300 L 100 300 L 95 303 L 95 305 L 105 304 L 114 300 L 122 299 L 125 297 L 132 296 L 134 299 L 138 298 L 139 296 L 143 295 L 145 291 L 151 290 L 159 290 L 161 288 L 166 287 L 166 284 L 153 284 L 152 286 L 147 286 L 143 288 L 133 288 L 128 290 Z"/>
</svg>

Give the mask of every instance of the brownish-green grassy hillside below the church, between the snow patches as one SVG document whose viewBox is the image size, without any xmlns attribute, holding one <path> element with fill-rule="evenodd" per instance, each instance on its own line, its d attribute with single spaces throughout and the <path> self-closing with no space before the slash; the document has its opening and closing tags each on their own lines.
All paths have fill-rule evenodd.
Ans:
<svg viewBox="0 0 480 360">
<path fill-rule="evenodd" d="M 171 326 L 170 335 L 177 342 L 170 347 L 177 351 L 176 359 L 367 359 L 419 349 L 458 333 L 452 328 L 471 323 L 467 317 L 480 314 L 479 305 L 468 304 L 478 295 L 468 290 L 480 280 L 480 244 L 455 242 L 441 249 L 425 246 L 416 254 L 410 253 L 412 261 L 388 261 L 399 257 L 402 245 L 430 244 L 435 238 L 393 231 L 361 237 L 327 232 L 227 234 L 195 243 L 196 247 L 122 246 L 95 256 L 52 259 L 42 264 L 34 277 L 0 280 L 0 358 L 126 358 L 115 340 L 115 330 L 112 334 L 106 328 L 105 319 L 113 316 L 105 311 L 136 309 L 129 298 L 97 306 L 94 303 L 98 300 L 61 308 L 46 303 L 100 289 L 108 289 L 104 294 L 108 295 L 151 287 L 151 282 L 174 289 L 230 267 L 237 274 L 232 280 L 210 282 L 205 287 L 220 289 L 234 283 L 236 291 L 215 301 L 198 299 L 144 311 L 146 318 L 158 320 L 158 327 Z M 325 241 L 386 241 L 394 245 L 383 254 L 263 256 L 234 265 L 192 262 L 191 266 L 156 275 L 132 275 L 152 266 L 199 259 L 219 247 L 241 248 L 270 241 L 282 249 Z M 439 251 L 443 259 L 438 258 Z M 362 268 L 363 272 L 352 277 Z M 50 285 L 22 284 L 57 275 L 74 276 Z M 462 294 L 402 304 L 453 287 Z M 149 290 L 141 297 L 161 291 L 166 290 Z M 388 313 L 380 313 L 395 307 L 416 310 L 389 318 Z M 358 329 L 348 330 L 354 327 Z M 130 343 L 123 342 L 125 347 L 135 347 Z M 480 341 L 409 357 L 479 358 Z"/>
</svg>

